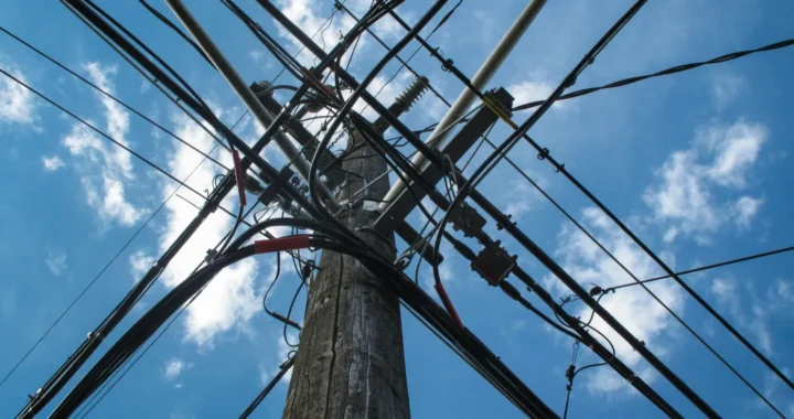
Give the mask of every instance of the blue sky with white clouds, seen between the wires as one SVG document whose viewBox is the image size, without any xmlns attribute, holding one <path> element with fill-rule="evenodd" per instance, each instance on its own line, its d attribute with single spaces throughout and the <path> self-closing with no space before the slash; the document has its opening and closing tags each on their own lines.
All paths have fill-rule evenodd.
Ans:
<svg viewBox="0 0 794 419">
<path fill-rule="evenodd" d="M 149 15 L 138 2 L 98 1 L 112 15 L 168 58 L 227 123 L 244 112 L 225 82 L 187 45 Z M 164 14 L 170 11 L 153 2 Z M 239 3 L 266 30 L 286 37 L 254 1 Z M 331 2 L 283 0 L 282 10 L 313 33 L 332 11 Z M 360 11 L 365 1 L 348 1 Z M 366 2 L 368 3 L 368 2 Z M 504 86 L 516 104 L 548 95 L 632 1 L 587 0 L 549 2 L 518 43 L 489 87 Z M 278 63 L 232 14 L 216 2 L 191 2 L 246 80 L 271 79 Z M 399 9 L 409 20 L 423 13 L 423 3 L 408 1 Z M 522 10 L 521 1 L 465 1 L 431 39 L 444 55 L 472 75 L 498 41 L 504 25 Z M 187 120 L 165 97 L 104 44 L 60 3 L 2 0 L 0 24 L 19 34 L 103 88 L 158 120 L 196 148 L 210 151 L 214 141 Z M 577 83 L 577 88 L 654 72 L 742 49 L 788 39 L 794 6 L 785 1 L 652 1 L 620 33 Z M 351 24 L 341 15 L 323 33 L 326 47 Z M 395 43 L 404 32 L 383 22 L 377 32 Z M 407 56 L 416 44 L 401 54 Z M 351 71 L 360 79 L 385 51 L 365 37 Z M 308 55 L 300 58 L 311 63 Z M 566 163 L 615 214 L 668 264 L 683 270 L 766 249 L 791 246 L 794 232 L 788 183 L 791 105 L 794 64 L 788 50 L 769 52 L 688 73 L 643 82 L 560 103 L 530 135 Z M 129 144 L 141 154 L 185 179 L 198 191 L 212 187 L 221 169 L 153 129 L 117 104 L 0 34 L 0 66 L 21 77 L 81 117 Z M 411 66 L 428 76 L 450 101 L 462 85 L 427 53 Z M 389 65 L 374 90 L 397 69 Z M 388 104 L 410 83 L 406 72 L 380 94 Z M 285 76 L 282 82 L 292 83 Z M 404 120 L 425 127 L 444 107 L 427 94 Z M 372 117 L 372 111 L 365 112 Z M 518 112 L 522 121 L 529 114 Z M 248 118 L 237 132 L 253 140 L 261 128 Z M 491 139 L 506 138 L 501 123 Z M 125 151 L 92 135 L 52 106 L 0 77 L 0 374 L 4 375 L 30 348 L 105 264 L 173 192 L 174 184 Z M 483 147 L 474 164 L 485 155 Z M 229 164 L 230 158 L 215 152 Z M 267 149 L 275 165 L 278 150 Z M 519 143 L 511 158 L 551 196 L 582 222 L 639 277 L 661 272 L 629 238 L 592 208 L 535 152 Z M 616 265 L 506 164 L 486 178 L 481 191 L 584 286 L 631 281 Z M 201 198 L 180 190 L 195 204 Z M 234 207 L 236 197 L 225 205 Z M 196 210 L 174 196 L 157 213 L 131 245 L 63 319 L 24 364 L 0 387 L 0 416 L 15 413 L 62 364 L 86 334 L 140 278 Z M 421 217 L 412 214 L 411 223 Z M 178 255 L 165 273 L 117 332 L 112 341 L 147 308 L 178 284 L 230 227 L 216 212 Z M 502 238 L 528 272 L 558 297 L 568 294 L 560 282 L 517 244 Z M 498 354 L 549 406 L 561 411 L 564 372 L 570 363 L 570 340 L 524 311 L 471 272 L 460 257 L 448 254 L 443 265 L 447 289 L 465 325 Z M 777 366 L 794 368 L 794 278 L 790 258 L 760 261 L 685 277 L 739 331 Z M 272 280 L 272 258 L 248 259 L 219 275 L 206 292 L 154 344 L 92 412 L 95 417 L 206 418 L 238 415 L 278 368 L 289 347 L 280 323 L 261 311 L 264 291 Z M 412 269 L 411 269 L 412 272 Z M 430 271 L 420 269 L 429 283 Z M 286 312 L 298 279 L 286 272 L 268 299 Z M 709 318 L 673 282 L 652 289 L 729 359 L 748 379 L 794 417 L 794 394 Z M 533 296 L 529 300 L 541 305 Z M 299 299 L 300 301 L 300 299 Z M 754 395 L 706 352 L 644 291 L 629 288 L 610 294 L 603 304 L 658 354 L 698 394 L 727 417 L 774 417 Z M 576 303 L 572 312 L 587 314 Z M 299 303 L 297 312 L 302 312 Z M 299 315 L 300 318 L 300 315 Z M 602 323 L 593 323 L 599 327 Z M 659 394 L 687 416 L 693 407 L 614 333 L 604 333 L 619 356 L 643 375 Z M 521 417 L 508 401 L 471 370 L 409 315 L 404 316 L 406 363 L 411 412 L 416 418 Z M 297 340 L 297 336 L 291 336 Z M 108 345 L 103 346 L 106 350 Z M 100 351 L 101 351 L 100 350 Z M 582 347 L 578 365 L 593 361 Z M 791 376 L 791 373 L 788 373 Z M 280 385 L 262 402 L 258 417 L 280 415 L 287 386 Z M 570 417 L 659 417 L 647 400 L 631 391 L 610 369 L 597 368 L 577 377 Z"/>
</svg>

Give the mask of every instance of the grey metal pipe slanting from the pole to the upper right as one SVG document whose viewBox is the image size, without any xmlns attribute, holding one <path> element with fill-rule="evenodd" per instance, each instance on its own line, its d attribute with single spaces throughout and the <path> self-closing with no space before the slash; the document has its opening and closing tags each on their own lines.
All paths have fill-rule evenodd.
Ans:
<svg viewBox="0 0 794 419">
<path fill-rule="evenodd" d="M 522 35 L 524 35 L 524 32 L 526 32 L 527 28 L 529 28 L 529 24 L 532 24 L 532 22 L 535 20 L 535 17 L 538 15 L 540 9 L 543 9 L 545 4 L 546 0 L 530 0 L 527 3 L 518 18 L 516 18 L 515 22 L 513 22 L 507 32 L 505 32 L 504 36 L 502 36 L 502 40 L 498 42 L 498 44 L 496 44 L 494 50 L 491 52 L 491 55 L 485 58 L 483 64 L 480 66 L 480 69 L 478 69 L 478 72 L 474 74 L 474 77 L 472 77 L 471 79 L 472 86 L 474 86 L 479 90 L 482 90 L 486 87 L 487 83 L 491 80 L 491 77 L 493 77 L 500 66 L 502 66 L 502 63 L 513 51 L 513 47 L 518 43 L 518 40 L 521 40 Z M 439 123 L 436 126 L 436 129 L 433 129 L 432 133 L 430 135 L 430 138 L 428 138 L 427 144 L 430 148 L 438 148 L 443 146 L 444 139 L 447 139 L 447 136 L 451 131 L 449 127 L 455 123 L 455 121 L 458 121 L 463 116 L 463 114 L 474 103 L 474 99 L 476 99 L 476 94 L 472 92 L 469 87 L 463 87 L 463 92 L 461 92 L 460 96 L 458 96 L 458 99 L 455 99 L 455 101 L 447 111 L 447 115 L 441 118 Z M 411 162 L 416 168 L 419 168 L 421 170 L 427 164 L 427 159 L 425 158 L 425 154 L 417 153 L 414 159 L 411 159 Z M 385 211 L 389 205 L 388 203 L 398 197 L 406 190 L 406 186 L 407 185 L 404 182 L 397 180 L 397 182 L 395 182 L 395 184 L 389 190 L 388 194 L 386 194 L 386 196 L 384 197 L 384 203 L 380 204 L 380 211 Z"/>
</svg>

